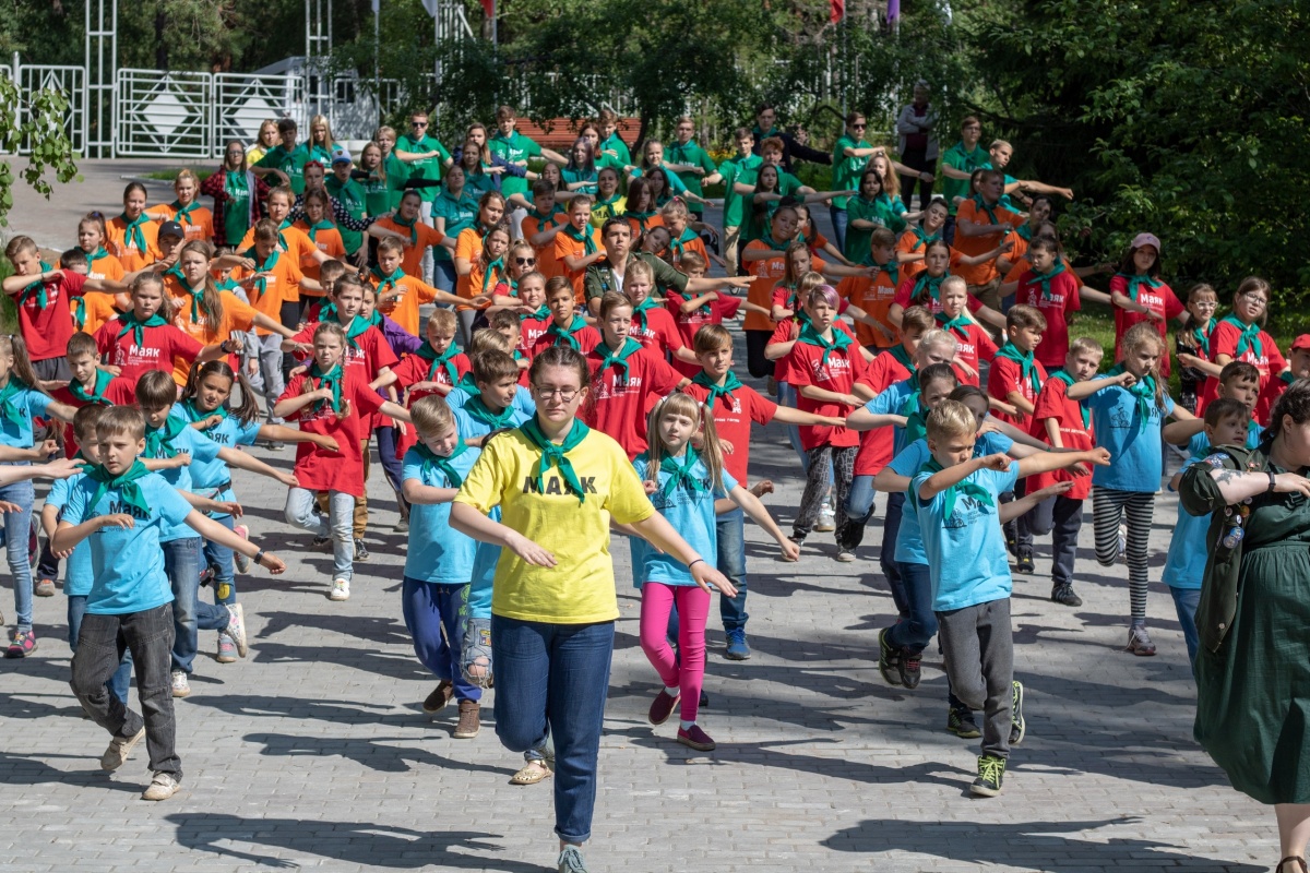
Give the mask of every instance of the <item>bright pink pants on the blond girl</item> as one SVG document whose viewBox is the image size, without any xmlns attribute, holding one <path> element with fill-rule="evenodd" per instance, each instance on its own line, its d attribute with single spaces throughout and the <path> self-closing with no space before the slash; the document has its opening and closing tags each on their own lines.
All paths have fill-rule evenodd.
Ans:
<svg viewBox="0 0 1310 873">
<path fill-rule="evenodd" d="M 681 666 L 673 662 L 668 644 L 668 615 L 677 603 L 677 649 Z M 642 652 L 660 682 L 683 694 L 683 721 L 696 721 L 705 681 L 705 619 L 710 614 L 710 593 L 700 585 L 642 585 Z"/>
</svg>

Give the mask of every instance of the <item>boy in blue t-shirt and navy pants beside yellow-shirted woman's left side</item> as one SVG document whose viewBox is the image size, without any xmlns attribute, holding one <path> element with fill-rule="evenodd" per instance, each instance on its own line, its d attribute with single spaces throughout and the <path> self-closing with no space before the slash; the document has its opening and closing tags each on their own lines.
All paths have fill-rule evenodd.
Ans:
<svg viewBox="0 0 1310 873">
<path fill-rule="evenodd" d="M 455 427 L 455 414 L 435 394 L 410 407 L 418 444 L 405 453 L 401 493 L 410 503 L 409 554 L 401 593 L 405 627 L 414 654 L 436 674 L 436 690 L 423 712 L 440 712 L 451 696 L 458 702 L 456 739 L 472 739 L 481 728 L 482 688 L 460 670 L 464 618 L 477 541 L 449 525 L 451 501 L 481 454 Z M 443 633 L 444 630 L 444 633 Z"/>
</svg>

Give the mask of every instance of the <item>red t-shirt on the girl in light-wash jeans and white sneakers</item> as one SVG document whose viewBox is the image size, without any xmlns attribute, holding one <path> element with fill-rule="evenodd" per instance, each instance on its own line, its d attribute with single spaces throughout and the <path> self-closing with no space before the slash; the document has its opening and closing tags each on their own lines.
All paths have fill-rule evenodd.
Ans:
<svg viewBox="0 0 1310 873">
<path fill-rule="evenodd" d="M 308 373 L 300 373 L 291 380 L 278 402 L 303 393 Z M 310 491 L 343 491 L 355 497 L 364 496 L 364 455 L 362 442 L 368 437 L 371 420 L 383 407 L 383 398 L 369 390 L 368 382 L 358 368 L 346 368 L 341 383 L 341 397 L 350 401 L 350 415 L 338 419 L 331 403 L 324 403 L 314 411 L 310 403 L 287 420 L 299 420 L 305 433 L 321 433 L 337 440 L 341 452 L 320 449 L 313 442 L 296 444 L 296 479 L 301 488 Z"/>
</svg>

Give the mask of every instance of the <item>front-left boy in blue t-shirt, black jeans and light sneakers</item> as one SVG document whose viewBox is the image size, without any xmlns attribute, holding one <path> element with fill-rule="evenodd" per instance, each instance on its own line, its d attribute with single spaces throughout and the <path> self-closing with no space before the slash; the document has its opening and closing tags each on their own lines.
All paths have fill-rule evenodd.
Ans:
<svg viewBox="0 0 1310 873">
<path fill-rule="evenodd" d="M 254 543 L 191 508 L 164 476 L 149 472 L 138 455 L 145 450 L 140 410 L 115 406 L 96 428 L 101 463 L 88 467 L 68 493 L 51 548 L 72 552 L 90 544 L 92 586 L 77 635 L 69 683 L 83 709 L 113 736 L 100 759 L 106 772 L 123 766 L 143 738 L 151 754 L 151 784 L 143 800 L 177 793 L 182 762 L 174 747 L 169 658 L 173 649 L 173 592 L 164 572 L 161 537 L 187 525 L 233 551 L 249 555 L 272 573 L 287 565 Z M 132 712 L 105 687 L 127 648 L 136 668 L 141 713 Z"/>
</svg>

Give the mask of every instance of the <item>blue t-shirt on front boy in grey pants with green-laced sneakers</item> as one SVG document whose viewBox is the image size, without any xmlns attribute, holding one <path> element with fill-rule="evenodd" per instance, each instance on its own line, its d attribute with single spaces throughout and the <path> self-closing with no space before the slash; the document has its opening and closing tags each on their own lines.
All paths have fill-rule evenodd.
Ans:
<svg viewBox="0 0 1310 873">
<path fill-rule="evenodd" d="M 927 551 L 927 572 L 933 580 L 933 610 L 951 610 L 989 603 L 1010 596 L 1010 561 L 1005 551 L 1005 534 L 997 509 L 1001 495 L 1014 491 L 1019 479 L 1019 462 L 1010 462 L 1005 472 L 977 470 L 964 479 L 986 490 L 992 504 L 956 490 L 955 509 L 946 518 L 946 492 L 924 501 L 918 488 L 933 474 L 924 471 L 910 483 L 907 505 L 918 513 L 918 526 Z"/>
</svg>

